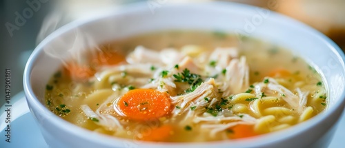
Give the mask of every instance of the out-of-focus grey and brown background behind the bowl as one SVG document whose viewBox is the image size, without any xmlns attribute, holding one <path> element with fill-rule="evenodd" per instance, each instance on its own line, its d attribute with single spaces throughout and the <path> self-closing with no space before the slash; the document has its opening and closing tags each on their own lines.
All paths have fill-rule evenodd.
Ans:
<svg viewBox="0 0 345 148">
<path fill-rule="evenodd" d="M 23 69 L 34 47 L 52 31 L 75 19 L 117 9 L 140 0 L 1 0 L 1 84 L 12 70 L 12 96 L 23 90 Z M 141 0 L 148 5 L 212 0 Z M 224 0 L 225 1 L 225 0 Z M 231 0 L 228 0 L 231 1 Z M 344 0 L 233 0 L 270 9 L 302 21 L 329 36 L 345 50 Z M 0 85 L 4 90 L 4 85 Z M 4 91 L 1 91 L 4 96 Z M 0 99 L 0 106 L 5 99 Z"/>
</svg>

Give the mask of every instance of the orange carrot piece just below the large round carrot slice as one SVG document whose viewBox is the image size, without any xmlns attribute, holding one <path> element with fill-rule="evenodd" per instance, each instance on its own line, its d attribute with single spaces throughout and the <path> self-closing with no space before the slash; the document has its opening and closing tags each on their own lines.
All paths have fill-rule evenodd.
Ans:
<svg viewBox="0 0 345 148">
<path fill-rule="evenodd" d="M 166 141 L 172 135 L 173 129 L 171 125 L 163 125 L 143 132 L 141 140 L 146 141 Z"/>
</svg>

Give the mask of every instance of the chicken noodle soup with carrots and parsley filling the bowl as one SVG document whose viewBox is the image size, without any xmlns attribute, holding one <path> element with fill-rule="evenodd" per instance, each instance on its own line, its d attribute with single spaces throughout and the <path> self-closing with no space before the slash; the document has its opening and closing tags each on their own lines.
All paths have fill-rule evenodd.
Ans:
<svg viewBox="0 0 345 148">
<path fill-rule="evenodd" d="M 145 34 L 64 63 L 46 86 L 47 107 L 121 138 L 248 138 L 304 122 L 327 104 L 322 79 L 303 59 L 221 32 Z"/>
</svg>

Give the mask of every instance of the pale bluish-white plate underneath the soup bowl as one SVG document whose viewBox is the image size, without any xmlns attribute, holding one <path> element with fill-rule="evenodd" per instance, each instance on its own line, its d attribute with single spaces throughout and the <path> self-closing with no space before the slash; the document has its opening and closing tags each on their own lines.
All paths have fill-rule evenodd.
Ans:
<svg viewBox="0 0 345 148">
<path fill-rule="evenodd" d="M 26 148 L 26 147 L 48 147 L 46 141 L 44 141 L 39 126 L 34 120 L 34 117 L 29 112 L 28 104 L 26 103 L 26 98 L 24 93 L 21 92 L 15 95 L 12 100 L 11 109 L 11 138 L 10 143 L 6 142 L 6 123 L 5 118 L 7 116 L 6 112 L 3 112 L 6 108 L 1 107 L 0 115 L 0 147 L 13 147 L 13 148 Z M 342 118 L 338 121 L 337 125 L 343 125 L 337 127 L 335 135 L 328 148 L 339 148 L 345 145 L 345 114 L 343 113 Z"/>
</svg>

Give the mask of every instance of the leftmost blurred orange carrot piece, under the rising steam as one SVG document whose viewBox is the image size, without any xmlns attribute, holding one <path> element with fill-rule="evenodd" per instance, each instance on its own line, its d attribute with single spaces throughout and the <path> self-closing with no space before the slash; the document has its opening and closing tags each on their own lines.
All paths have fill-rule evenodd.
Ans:
<svg viewBox="0 0 345 148">
<path fill-rule="evenodd" d="M 77 63 L 68 63 L 65 67 L 65 72 L 73 79 L 73 80 L 85 80 L 86 78 L 90 78 L 95 74 L 95 70 L 93 70 L 88 65 L 78 65 Z"/>
</svg>

